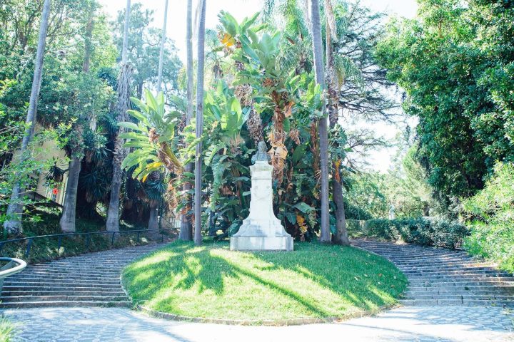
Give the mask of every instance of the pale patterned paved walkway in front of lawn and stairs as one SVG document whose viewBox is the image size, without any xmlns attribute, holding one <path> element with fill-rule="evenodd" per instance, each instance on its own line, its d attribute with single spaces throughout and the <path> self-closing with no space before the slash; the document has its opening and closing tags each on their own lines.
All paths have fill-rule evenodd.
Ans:
<svg viewBox="0 0 514 342">
<path fill-rule="evenodd" d="M 405 306 L 376 317 L 306 326 L 223 326 L 163 321 L 120 308 L 9 309 L 15 341 L 514 341 L 504 309 Z"/>
</svg>

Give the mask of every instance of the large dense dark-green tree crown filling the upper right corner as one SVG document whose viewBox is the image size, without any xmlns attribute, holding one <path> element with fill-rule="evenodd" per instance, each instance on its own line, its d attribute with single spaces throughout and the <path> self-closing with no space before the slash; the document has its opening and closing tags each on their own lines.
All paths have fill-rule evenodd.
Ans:
<svg viewBox="0 0 514 342">
<path fill-rule="evenodd" d="M 377 56 L 418 116 L 418 159 L 442 197 L 473 195 L 495 160 L 513 160 L 513 1 L 420 1 Z"/>
</svg>

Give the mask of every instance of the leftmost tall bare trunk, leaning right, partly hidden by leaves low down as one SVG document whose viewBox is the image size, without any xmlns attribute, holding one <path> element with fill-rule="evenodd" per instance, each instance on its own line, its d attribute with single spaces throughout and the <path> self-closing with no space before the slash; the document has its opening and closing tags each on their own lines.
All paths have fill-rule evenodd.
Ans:
<svg viewBox="0 0 514 342">
<path fill-rule="evenodd" d="M 51 0 L 45 0 L 43 5 L 43 13 L 41 14 L 41 25 L 39 26 L 39 40 L 36 52 L 36 61 L 34 63 L 34 78 L 32 79 L 31 97 L 29 100 L 29 111 L 26 117 L 26 130 L 24 138 L 21 140 L 21 148 L 19 151 L 18 162 L 23 162 L 28 156 L 27 148 L 34 135 L 34 126 L 36 123 L 37 103 L 39 98 L 39 90 L 41 89 L 41 76 L 43 74 L 44 50 L 46 45 L 46 31 L 48 30 L 48 21 L 50 14 Z M 20 203 L 21 194 L 25 192 L 24 185 L 16 182 L 13 187 L 9 207 L 7 207 L 7 220 L 4 222 L 4 229 L 10 233 L 21 232 L 21 214 L 23 213 L 23 205 Z"/>
</svg>

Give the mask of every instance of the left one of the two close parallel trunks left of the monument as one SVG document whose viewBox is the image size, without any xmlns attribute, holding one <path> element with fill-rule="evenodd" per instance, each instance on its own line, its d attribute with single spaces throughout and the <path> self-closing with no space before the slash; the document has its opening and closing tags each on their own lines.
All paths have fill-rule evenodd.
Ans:
<svg viewBox="0 0 514 342">
<path fill-rule="evenodd" d="M 187 3 L 187 19 L 186 19 L 186 53 L 187 53 L 187 108 L 186 108 L 186 125 L 191 123 L 193 118 L 193 0 Z M 185 167 L 186 172 L 193 171 L 193 163 L 190 162 Z M 182 187 L 186 202 L 191 202 L 191 183 L 186 182 Z M 181 214 L 181 230 L 178 238 L 183 241 L 193 239 L 193 225 L 191 224 L 191 216 L 188 214 L 191 207 L 186 205 Z"/>
</svg>

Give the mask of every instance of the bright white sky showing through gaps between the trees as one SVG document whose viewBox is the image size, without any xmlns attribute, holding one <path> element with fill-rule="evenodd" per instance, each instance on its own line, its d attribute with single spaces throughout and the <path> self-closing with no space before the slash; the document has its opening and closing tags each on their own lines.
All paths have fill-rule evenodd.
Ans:
<svg viewBox="0 0 514 342">
<path fill-rule="evenodd" d="M 119 10 L 124 9 L 126 0 L 99 0 L 104 6 L 104 11 L 111 18 L 115 18 Z M 165 0 L 132 0 L 132 3 L 141 2 L 145 8 L 153 9 L 154 21 L 152 26 L 162 28 L 164 16 Z M 186 4 L 187 0 L 169 0 L 168 4 L 168 23 L 166 25 L 166 36 L 175 41 L 178 49 L 178 57 L 185 63 L 186 61 Z M 418 9 L 415 0 L 361 0 L 361 4 L 368 6 L 375 11 L 384 11 L 390 16 L 405 16 L 413 18 Z M 218 25 L 218 13 L 221 10 L 230 12 L 238 21 L 251 16 L 262 9 L 263 0 L 207 0 L 206 7 L 206 28 L 216 28 Z M 193 17 L 196 10 L 196 0 L 193 0 Z M 410 125 L 415 123 L 411 120 Z M 387 125 L 376 123 L 370 125 L 361 123 L 367 128 L 371 128 L 377 135 L 388 139 L 393 139 L 397 133 L 403 129 L 402 123 Z M 371 170 L 387 172 L 391 165 L 391 157 L 395 155 L 394 148 L 374 151 L 368 157 Z"/>
</svg>

